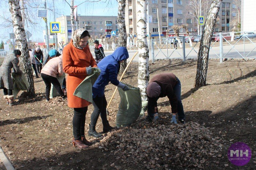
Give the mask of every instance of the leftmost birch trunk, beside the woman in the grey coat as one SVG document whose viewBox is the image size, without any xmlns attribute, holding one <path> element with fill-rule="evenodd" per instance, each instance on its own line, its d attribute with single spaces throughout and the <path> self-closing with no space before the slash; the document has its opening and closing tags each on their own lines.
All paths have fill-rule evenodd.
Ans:
<svg viewBox="0 0 256 170">
<path fill-rule="evenodd" d="M 16 45 L 21 51 L 21 56 L 19 57 L 20 70 L 25 74 L 29 83 L 28 96 L 34 96 L 34 79 L 28 52 L 28 43 L 22 23 L 19 0 L 9 0 L 9 7 L 12 15 L 13 32 L 16 39 Z"/>
</svg>

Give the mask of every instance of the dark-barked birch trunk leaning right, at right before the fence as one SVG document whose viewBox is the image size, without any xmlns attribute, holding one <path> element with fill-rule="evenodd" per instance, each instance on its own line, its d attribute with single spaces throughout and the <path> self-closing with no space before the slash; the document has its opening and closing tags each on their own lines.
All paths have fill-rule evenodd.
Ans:
<svg viewBox="0 0 256 170">
<path fill-rule="evenodd" d="M 217 14 L 222 0 L 213 0 L 208 16 L 205 21 L 204 30 L 201 37 L 200 47 L 197 56 L 196 82 L 195 87 L 206 85 L 206 75 L 208 69 L 209 50 L 213 28 L 216 24 Z"/>
</svg>

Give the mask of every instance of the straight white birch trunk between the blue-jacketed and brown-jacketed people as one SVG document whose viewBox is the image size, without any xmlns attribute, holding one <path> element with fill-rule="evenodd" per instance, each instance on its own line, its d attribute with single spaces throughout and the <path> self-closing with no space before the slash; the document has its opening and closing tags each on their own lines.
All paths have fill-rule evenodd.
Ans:
<svg viewBox="0 0 256 170">
<path fill-rule="evenodd" d="M 147 5 L 148 0 L 138 0 L 137 41 L 139 51 L 138 87 L 142 101 L 147 100 L 146 87 L 149 81 L 148 41 L 147 41 Z"/>
</svg>

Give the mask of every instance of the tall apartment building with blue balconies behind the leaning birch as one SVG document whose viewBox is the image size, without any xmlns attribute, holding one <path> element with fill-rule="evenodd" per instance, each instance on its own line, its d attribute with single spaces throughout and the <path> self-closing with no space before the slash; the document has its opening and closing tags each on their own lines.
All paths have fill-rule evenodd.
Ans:
<svg viewBox="0 0 256 170">
<path fill-rule="evenodd" d="M 219 20 L 214 28 L 215 32 L 230 32 L 233 28 L 233 25 L 230 26 L 231 20 L 235 20 L 239 17 L 237 5 L 232 4 L 233 1 L 237 2 L 239 0 L 223 0 L 219 11 Z M 126 4 L 126 31 L 135 33 L 137 32 L 137 1 L 126 0 Z M 202 16 L 205 18 L 207 17 L 209 5 L 211 5 L 210 2 L 208 4 L 202 4 L 202 9 L 205 9 L 202 10 Z M 200 27 L 198 26 L 198 20 L 197 17 L 195 17 L 193 8 L 193 4 L 190 0 L 148 0 L 148 32 L 151 32 L 152 37 L 159 36 L 159 32 L 161 36 L 165 36 L 166 30 L 168 29 L 171 30 L 170 33 L 173 33 L 171 28 L 173 25 L 188 24 L 190 35 L 197 35 Z M 185 32 L 186 30 L 184 28 L 180 28 L 180 33 Z"/>
</svg>

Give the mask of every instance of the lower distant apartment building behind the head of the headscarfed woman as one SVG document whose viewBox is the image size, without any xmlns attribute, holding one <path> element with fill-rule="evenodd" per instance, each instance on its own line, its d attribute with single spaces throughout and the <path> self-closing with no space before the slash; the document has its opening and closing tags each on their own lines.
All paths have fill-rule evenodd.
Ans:
<svg viewBox="0 0 256 170">
<path fill-rule="evenodd" d="M 78 29 L 84 28 L 92 37 L 107 34 L 110 37 L 111 31 L 118 31 L 117 16 L 77 16 Z M 58 33 L 58 43 L 64 41 L 68 43 L 71 40 L 72 29 L 70 16 L 61 16 L 56 18 L 60 22 L 60 33 Z M 76 22 L 75 22 L 76 27 Z"/>
</svg>

